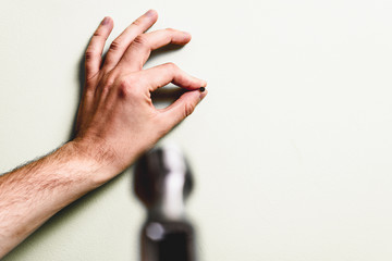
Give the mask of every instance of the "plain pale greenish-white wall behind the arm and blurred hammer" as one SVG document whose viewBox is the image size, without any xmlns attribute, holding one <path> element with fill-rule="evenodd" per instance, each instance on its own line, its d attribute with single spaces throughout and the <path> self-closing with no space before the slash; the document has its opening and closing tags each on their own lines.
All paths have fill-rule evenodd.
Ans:
<svg viewBox="0 0 392 261">
<path fill-rule="evenodd" d="M 0 9 L 0 172 L 65 142 L 79 63 L 154 8 L 191 32 L 175 62 L 209 95 L 162 142 L 189 157 L 200 260 L 392 259 L 392 2 L 11 1 Z M 61 211 L 3 260 L 138 260 L 132 170 Z"/>
</svg>

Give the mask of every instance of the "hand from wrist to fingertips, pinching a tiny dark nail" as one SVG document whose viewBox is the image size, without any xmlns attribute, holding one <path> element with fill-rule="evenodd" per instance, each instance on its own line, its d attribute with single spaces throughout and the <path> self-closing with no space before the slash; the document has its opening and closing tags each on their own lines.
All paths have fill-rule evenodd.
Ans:
<svg viewBox="0 0 392 261">
<path fill-rule="evenodd" d="M 171 28 L 145 33 L 157 17 L 157 12 L 150 10 L 133 22 L 111 44 L 102 62 L 105 42 L 113 28 L 112 20 L 106 17 L 86 51 L 86 84 L 75 141 L 108 169 L 98 177 L 102 182 L 155 145 L 207 95 L 199 91 L 206 86 L 205 80 L 187 75 L 173 63 L 143 70 L 152 50 L 191 40 L 189 34 Z M 170 107 L 157 110 L 150 92 L 169 83 L 189 91 Z"/>
</svg>

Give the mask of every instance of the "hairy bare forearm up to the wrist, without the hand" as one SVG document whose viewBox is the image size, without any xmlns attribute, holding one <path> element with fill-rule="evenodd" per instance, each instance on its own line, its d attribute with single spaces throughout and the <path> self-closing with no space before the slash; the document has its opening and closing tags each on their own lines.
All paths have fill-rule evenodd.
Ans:
<svg viewBox="0 0 392 261">
<path fill-rule="evenodd" d="M 0 176 L 0 259 L 50 216 L 99 186 L 105 165 L 69 142 Z"/>
</svg>

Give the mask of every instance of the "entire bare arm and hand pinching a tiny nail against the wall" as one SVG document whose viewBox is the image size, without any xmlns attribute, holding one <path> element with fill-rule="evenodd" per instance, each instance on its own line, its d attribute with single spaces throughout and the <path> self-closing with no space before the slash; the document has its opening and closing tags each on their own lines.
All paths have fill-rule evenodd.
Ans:
<svg viewBox="0 0 392 261">
<path fill-rule="evenodd" d="M 0 259 L 59 210 L 128 167 L 207 95 L 199 89 L 206 87 L 205 80 L 172 63 L 143 70 L 151 50 L 191 40 L 189 34 L 170 28 L 146 33 L 157 18 L 154 10 L 138 17 L 111 44 L 102 61 L 113 28 L 113 21 L 105 17 L 86 50 L 76 137 L 0 176 Z M 188 91 L 158 110 L 150 92 L 169 83 Z"/>
</svg>

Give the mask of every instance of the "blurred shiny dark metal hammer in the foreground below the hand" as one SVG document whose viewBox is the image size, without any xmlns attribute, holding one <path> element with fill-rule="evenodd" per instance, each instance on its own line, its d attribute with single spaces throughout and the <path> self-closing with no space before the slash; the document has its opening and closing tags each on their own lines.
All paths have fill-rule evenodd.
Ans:
<svg viewBox="0 0 392 261">
<path fill-rule="evenodd" d="M 134 190 L 147 208 L 142 229 L 142 261 L 195 261 L 195 232 L 184 201 L 193 179 L 177 147 L 156 148 L 135 165 Z"/>
</svg>

